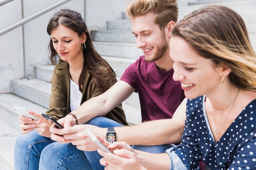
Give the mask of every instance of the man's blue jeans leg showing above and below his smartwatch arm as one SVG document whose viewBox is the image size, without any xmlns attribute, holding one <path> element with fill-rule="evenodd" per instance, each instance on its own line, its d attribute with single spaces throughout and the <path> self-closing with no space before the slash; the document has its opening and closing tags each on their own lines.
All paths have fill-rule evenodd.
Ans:
<svg viewBox="0 0 256 170">
<path fill-rule="evenodd" d="M 108 119 L 106 117 L 95 117 L 95 118 L 91 119 L 90 121 L 86 122 L 85 124 L 90 124 L 90 125 L 98 126 L 101 128 L 124 126 L 124 125 L 119 124 L 118 122 L 116 122 L 112 119 Z M 117 137 L 117 140 L 118 140 L 118 137 Z M 94 170 L 104 170 L 104 166 L 102 166 L 99 163 L 99 160 L 102 157 L 101 157 L 101 155 L 98 154 L 97 151 L 91 151 L 91 152 L 85 151 L 84 153 Z"/>
</svg>

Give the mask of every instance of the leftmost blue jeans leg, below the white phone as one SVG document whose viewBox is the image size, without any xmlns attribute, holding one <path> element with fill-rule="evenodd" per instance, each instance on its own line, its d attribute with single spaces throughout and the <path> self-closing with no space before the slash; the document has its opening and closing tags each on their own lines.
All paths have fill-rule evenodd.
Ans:
<svg viewBox="0 0 256 170">
<path fill-rule="evenodd" d="M 18 135 L 14 146 L 14 169 L 38 170 L 43 148 L 53 142 L 51 138 L 39 135 L 36 130 Z"/>
</svg>

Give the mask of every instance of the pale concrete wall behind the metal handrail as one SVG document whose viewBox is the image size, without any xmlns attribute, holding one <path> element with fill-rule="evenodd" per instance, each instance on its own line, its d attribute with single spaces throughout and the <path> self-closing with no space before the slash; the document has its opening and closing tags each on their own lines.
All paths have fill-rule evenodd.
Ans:
<svg viewBox="0 0 256 170">
<path fill-rule="evenodd" d="M 24 17 L 57 2 L 58 0 L 23 0 Z M 46 32 L 49 18 L 62 8 L 79 11 L 84 16 L 84 0 L 71 0 L 38 18 L 24 24 L 24 54 L 22 26 L 0 36 L 0 93 L 11 93 L 11 79 L 33 77 L 35 64 L 47 64 L 49 35 Z M 21 0 L 0 6 L 0 29 L 22 19 Z M 24 62 L 25 73 L 24 75 Z"/>
</svg>

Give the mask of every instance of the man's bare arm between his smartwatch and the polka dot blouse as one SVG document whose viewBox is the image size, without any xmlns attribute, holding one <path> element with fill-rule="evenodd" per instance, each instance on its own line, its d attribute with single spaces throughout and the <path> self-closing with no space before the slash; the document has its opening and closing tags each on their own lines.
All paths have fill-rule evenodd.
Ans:
<svg viewBox="0 0 256 170">
<path fill-rule="evenodd" d="M 117 140 L 126 141 L 129 145 L 148 146 L 180 143 L 186 120 L 186 100 L 177 108 L 172 119 L 115 128 Z"/>
</svg>

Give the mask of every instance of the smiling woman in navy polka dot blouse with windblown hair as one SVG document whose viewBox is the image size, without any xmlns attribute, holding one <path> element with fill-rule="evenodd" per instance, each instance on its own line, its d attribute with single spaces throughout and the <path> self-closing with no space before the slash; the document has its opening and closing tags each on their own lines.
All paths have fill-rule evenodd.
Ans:
<svg viewBox="0 0 256 170">
<path fill-rule="evenodd" d="M 227 7 L 205 6 L 174 26 L 170 54 L 173 79 L 188 98 L 181 143 L 156 155 L 117 142 L 108 146 L 119 148 L 115 155 L 98 151 L 101 164 L 196 170 L 201 161 L 201 170 L 256 170 L 256 53 L 243 19 Z"/>
</svg>

